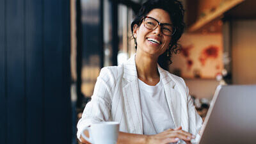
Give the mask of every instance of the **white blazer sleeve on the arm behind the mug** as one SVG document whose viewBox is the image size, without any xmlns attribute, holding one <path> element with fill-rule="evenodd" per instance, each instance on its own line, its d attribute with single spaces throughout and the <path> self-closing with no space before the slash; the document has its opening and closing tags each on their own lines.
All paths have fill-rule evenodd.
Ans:
<svg viewBox="0 0 256 144">
<path fill-rule="evenodd" d="M 97 122 L 108 121 L 111 111 L 111 88 L 114 77 L 111 70 L 102 68 L 97 78 L 92 100 L 84 108 L 82 118 L 77 123 L 77 138 L 80 140 L 81 132 L 85 127 Z M 81 140 L 80 140 L 81 141 Z"/>
</svg>

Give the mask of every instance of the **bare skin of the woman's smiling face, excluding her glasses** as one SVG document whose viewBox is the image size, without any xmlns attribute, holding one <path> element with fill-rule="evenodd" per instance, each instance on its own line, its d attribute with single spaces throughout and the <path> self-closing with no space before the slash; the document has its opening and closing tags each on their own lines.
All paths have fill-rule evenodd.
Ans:
<svg viewBox="0 0 256 144">
<path fill-rule="evenodd" d="M 161 24 L 172 24 L 168 12 L 159 8 L 151 10 L 147 16 L 158 20 Z M 143 52 L 144 54 L 150 54 L 157 58 L 168 49 L 172 38 L 172 36 L 163 35 L 161 26 L 157 26 L 156 29 L 151 30 L 145 28 L 143 22 L 140 26 L 134 26 L 133 34 L 137 42 L 137 53 Z"/>
</svg>

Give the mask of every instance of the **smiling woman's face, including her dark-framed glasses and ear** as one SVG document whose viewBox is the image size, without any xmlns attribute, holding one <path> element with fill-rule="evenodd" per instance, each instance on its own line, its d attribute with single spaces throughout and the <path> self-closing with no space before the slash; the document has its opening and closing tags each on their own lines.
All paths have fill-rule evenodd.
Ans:
<svg viewBox="0 0 256 144">
<path fill-rule="evenodd" d="M 158 21 L 162 24 L 159 25 Z M 140 24 L 140 26 L 134 24 L 133 36 L 136 39 L 137 45 L 136 58 L 149 54 L 148 56 L 157 61 L 158 57 L 163 54 L 163 52 L 167 51 L 168 47 L 171 45 L 171 23 L 172 21 L 170 20 L 168 12 L 156 8 L 147 14 L 145 19 L 143 19 L 143 24 Z M 170 27 L 170 32 L 168 33 L 170 35 L 163 33 L 164 28 L 167 27 L 163 26 L 163 24 Z"/>
</svg>

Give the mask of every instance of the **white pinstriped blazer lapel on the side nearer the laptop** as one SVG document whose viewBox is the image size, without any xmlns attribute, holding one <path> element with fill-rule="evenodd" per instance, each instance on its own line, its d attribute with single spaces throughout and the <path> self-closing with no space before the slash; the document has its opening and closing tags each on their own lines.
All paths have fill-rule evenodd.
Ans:
<svg viewBox="0 0 256 144">
<path fill-rule="evenodd" d="M 180 126 L 180 93 L 175 90 L 176 83 L 168 73 L 158 66 L 161 81 L 163 81 L 164 92 L 175 127 Z"/>
</svg>

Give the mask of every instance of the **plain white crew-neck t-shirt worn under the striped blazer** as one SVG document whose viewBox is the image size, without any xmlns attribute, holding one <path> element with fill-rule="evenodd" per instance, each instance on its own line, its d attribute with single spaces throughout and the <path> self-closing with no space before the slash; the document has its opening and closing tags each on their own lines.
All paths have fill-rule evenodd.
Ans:
<svg viewBox="0 0 256 144">
<path fill-rule="evenodd" d="M 156 86 L 149 86 L 138 79 L 143 134 L 158 134 L 166 129 L 174 129 L 175 124 L 160 80 Z"/>
</svg>

